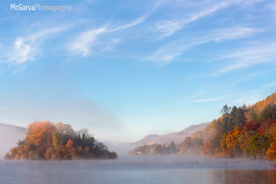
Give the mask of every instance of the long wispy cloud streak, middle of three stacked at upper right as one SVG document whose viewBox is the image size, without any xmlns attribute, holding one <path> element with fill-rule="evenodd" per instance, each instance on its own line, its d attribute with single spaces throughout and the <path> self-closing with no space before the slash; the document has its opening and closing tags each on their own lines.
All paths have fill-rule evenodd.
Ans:
<svg viewBox="0 0 276 184">
<path fill-rule="evenodd" d="M 226 28 L 214 30 L 213 32 L 207 34 L 206 36 L 190 38 L 181 38 L 177 41 L 172 41 L 164 47 L 155 51 L 150 57 L 146 57 L 145 61 L 155 61 L 157 65 L 166 65 L 170 63 L 175 57 L 181 55 L 185 50 L 193 48 L 197 45 L 202 45 L 208 42 L 219 43 L 221 41 L 226 41 L 230 39 L 241 39 L 244 37 L 249 37 L 255 34 L 258 30 L 254 28 Z"/>
</svg>

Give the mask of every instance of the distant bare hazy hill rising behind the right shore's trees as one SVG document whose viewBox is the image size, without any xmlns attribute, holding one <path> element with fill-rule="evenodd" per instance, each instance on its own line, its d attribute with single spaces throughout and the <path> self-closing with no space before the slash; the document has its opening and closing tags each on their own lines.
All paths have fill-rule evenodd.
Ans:
<svg viewBox="0 0 276 184">
<path fill-rule="evenodd" d="M 166 135 L 155 135 L 150 134 L 148 136 L 145 136 L 140 141 L 136 141 L 134 143 L 129 143 L 130 145 L 147 145 L 152 143 L 170 143 L 171 141 L 174 141 L 176 144 L 181 143 L 184 141 L 184 139 L 187 136 L 192 136 L 195 132 L 204 130 L 204 128 L 209 125 L 208 123 L 201 123 L 199 125 L 190 125 L 189 127 L 185 128 L 184 130 L 181 130 L 180 132 L 173 132 Z"/>
</svg>

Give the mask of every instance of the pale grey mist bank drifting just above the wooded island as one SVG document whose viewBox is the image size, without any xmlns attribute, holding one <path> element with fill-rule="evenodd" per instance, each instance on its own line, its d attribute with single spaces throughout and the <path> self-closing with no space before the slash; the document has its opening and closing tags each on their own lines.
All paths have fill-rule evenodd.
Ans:
<svg viewBox="0 0 276 184">
<path fill-rule="evenodd" d="M 3 101 L 6 108 L 1 108 L 1 123 L 27 127 L 33 121 L 62 122 L 72 125 L 75 130 L 83 127 L 97 137 L 99 141 L 115 139 L 121 132 L 121 121 L 92 101 L 60 97 L 54 102 L 40 99 L 18 99 L 16 103 Z M 16 114 L 16 115 L 14 115 Z M 116 131 L 115 131 L 116 130 Z"/>
</svg>

